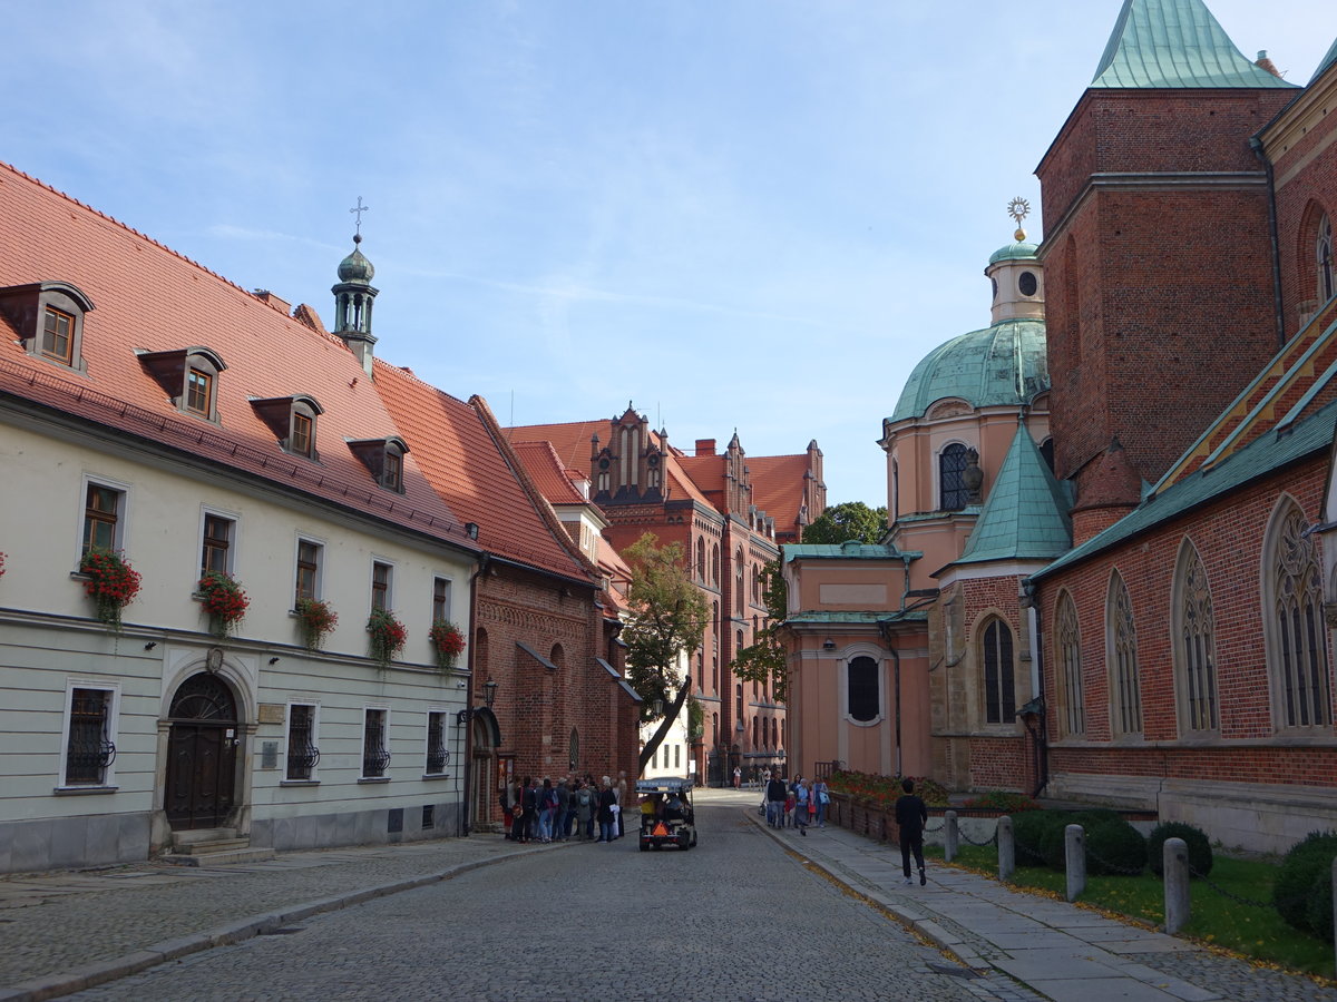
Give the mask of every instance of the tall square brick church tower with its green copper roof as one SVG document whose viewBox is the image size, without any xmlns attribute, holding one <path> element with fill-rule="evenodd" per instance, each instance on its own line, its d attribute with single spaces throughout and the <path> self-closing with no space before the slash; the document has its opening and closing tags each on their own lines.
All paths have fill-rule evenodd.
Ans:
<svg viewBox="0 0 1337 1002">
<path fill-rule="evenodd" d="M 1124 0 L 1036 168 L 1055 472 L 1079 493 L 1115 438 L 1154 482 L 1280 347 L 1249 140 L 1294 94 L 1202 0 Z"/>
</svg>

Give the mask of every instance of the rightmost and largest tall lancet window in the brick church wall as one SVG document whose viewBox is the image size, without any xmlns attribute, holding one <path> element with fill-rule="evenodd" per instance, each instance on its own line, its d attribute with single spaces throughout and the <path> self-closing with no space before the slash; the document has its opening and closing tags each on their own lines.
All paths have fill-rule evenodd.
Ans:
<svg viewBox="0 0 1337 1002">
<path fill-rule="evenodd" d="M 1267 651 L 1278 728 L 1326 728 L 1332 723 L 1326 629 L 1318 553 L 1294 504 L 1280 512 L 1270 533 L 1270 619 Z"/>
</svg>

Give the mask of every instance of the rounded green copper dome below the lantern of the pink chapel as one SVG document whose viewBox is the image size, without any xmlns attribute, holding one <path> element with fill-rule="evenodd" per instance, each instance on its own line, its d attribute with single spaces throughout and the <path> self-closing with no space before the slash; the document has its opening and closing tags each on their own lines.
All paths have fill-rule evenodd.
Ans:
<svg viewBox="0 0 1337 1002">
<path fill-rule="evenodd" d="M 1017 406 L 1048 389 L 1044 321 L 999 321 L 929 351 L 905 381 L 888 421 L 923 417 L 944 397 L 972 407 Z"/>
</svg>

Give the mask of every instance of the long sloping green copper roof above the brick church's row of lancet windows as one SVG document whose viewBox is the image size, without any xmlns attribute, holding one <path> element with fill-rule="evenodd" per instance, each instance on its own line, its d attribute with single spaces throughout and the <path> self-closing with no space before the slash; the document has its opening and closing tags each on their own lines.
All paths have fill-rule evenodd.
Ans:
<svg viewBox="0 0 1337 1002">
<path fill-rule="evenodd" d="M 1043 577 L 1076 564 L 1140 532 L 1238 490 L 1250 481 L 1278 473 L 1314 453 L 1326 453 L 1332 448 L 1334 429 L 1337 429 L 1337 401 L 1326 403 L 1288 430 L 1267 432 L 1219 464 L 1206 470 L 1199 469 L 1159 494 L 1151 494 L 1108 529 L 1059 557 L 1034 577 Z"/>
</svg>

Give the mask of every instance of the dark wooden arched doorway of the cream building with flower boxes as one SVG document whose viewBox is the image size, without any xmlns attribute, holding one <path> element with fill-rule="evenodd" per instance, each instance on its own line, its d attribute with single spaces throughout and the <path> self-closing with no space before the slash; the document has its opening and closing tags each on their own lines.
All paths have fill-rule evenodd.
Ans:
<svg viewBox="0 0 1337 1002">
<path fill-rule="evenodd" d="M 167 716 L 167 823 L 174 830 L 217 828 L 233 810 L 237 697 L 217 675 L 201 672 L 180 684 Z"/>
</svg>

